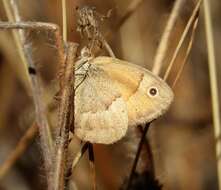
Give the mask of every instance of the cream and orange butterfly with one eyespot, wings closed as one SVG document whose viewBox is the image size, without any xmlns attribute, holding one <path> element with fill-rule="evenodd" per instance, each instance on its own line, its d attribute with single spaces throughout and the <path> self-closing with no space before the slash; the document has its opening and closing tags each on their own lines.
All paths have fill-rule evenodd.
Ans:
<svg viewBox="0 0 221 190">
<path fill-rule="evenodd" d="M 105 56 L 76 69 L 75 86 L 74 133 L 91 143 L 120 140 L 128 127 L 164 114 L 174 97 L 166 82 L 147 69 Z"/>
</svg>

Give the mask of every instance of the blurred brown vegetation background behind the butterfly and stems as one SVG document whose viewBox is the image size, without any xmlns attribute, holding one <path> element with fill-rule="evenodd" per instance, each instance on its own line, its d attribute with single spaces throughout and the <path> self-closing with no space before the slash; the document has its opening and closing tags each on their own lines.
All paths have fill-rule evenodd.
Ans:
<svg viewBox="0 0 221 190">
<path fill-rule="evenodd" d="M 60 0 L 18 0 L 24 21 L 52 22 L 62 25 Z M 102 32 L 108 35 L 116 57 L 151 70 L 161 35 L 172 10 L 174 0 L 69 0 L 68 40 L 82 43 L 76 32 L 76 6 L 95 6 L 99 13 L 112 9 L 111 17 L 103 22 Z M 168 67 L 172 53 L 184 27 L 192 14 L 196 1 L 185 0 L 169 40 L 161 76 Z M 122 25 L 119 21 L 134 6 L 131 15 Z M 221 61 L 221 1 L 211 1 L 215 50 L 220 76 Z M 0 1 L 0 20 L 7 17 Z M 57 56 L 49 32 L 28 32 L 34 47 L 34 61 L 42 76 L 48 106 L 48 118 L 56 127 Z M 187 41 L 188 42 L 188 41 Z M 184 43 L 184 47 L 186 43 Z M 181 50 L 168 83 L 171 85 L 185 48 Z M 0 31 L 0 165 L 15 149 L 17 143 L 34 121 L 34 107 L 20 58 L 11 32 Z M 221 77 L 218 78 L 220 81 Z M 219 84 L 221 84 L 219 82 Z M 200 10 L 199 24 L 189 59 L 174 87 L 175 100 L 163 117 L 151 125 L 148 138 L 153 152 L 157 179 L 168 190 L 218 189 L 215 157 L 215 140 L 212 125 L 211 95 L 207 66 L 207 48 L 204 31 L 204 14 Z M 38 135 L 32 135 L 28 146 L 13 167 L 0 179 L 0 189 L 44 189 L 41 150 Z M 71 156 L 79 150 L 79 140 L 73 138 Z M 95 145 L 95 163 L 98 189 L 119 189 L 129 174 L 138 144 L 136 134 L 128 133 L 119 143 Z M 140 166 L 142 167 L 142 166 Z M 87 155 L 80 161 L 71 177 L 78 189 L 90 189 Z"/>
</svg>

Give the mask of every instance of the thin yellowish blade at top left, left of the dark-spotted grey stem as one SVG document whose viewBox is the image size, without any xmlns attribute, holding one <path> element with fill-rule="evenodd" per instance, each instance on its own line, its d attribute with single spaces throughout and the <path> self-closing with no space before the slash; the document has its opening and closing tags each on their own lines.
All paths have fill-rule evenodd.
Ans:
<svg viewBox="0 0 221 190">
<path fill-rule="evenodd" d="M 9 0 L 3 0 L 3 6 L 4 6 L 4 9 L 6 11 L 6 15 L 8 17 L 8 20 L 10 22 L 14 22 L 15 18 L 14 18 L 13 14 L 12 14 L 12 10 L 11 10 L 10 4 L 9 4 Z M 25 78 L 26 78 L 26 81 L 27 81 L 27 84 L 25 83 L 26 84 L 26 89 L 28 90 L 28 93 L 30 93 L 31 88 L 32 88 L 31 87 L 32 84 L 31 84 L 30 76 L 28 74 L 28 68 L 27 68 L 28 64 L 27 64 L 27 60 L 26 60 L 26 58 L 24 56 L 24 53 L 23 53 L 21 39 L 19 38 L 18 33 L 16 31 L 14 31 L 14 30 L 12 31 L 12 35 L 13 35 L 13 38 L 15 40 L 15 45 L 16 45 L 16 47 L 18 49 L 18 54 L 19 54 L 19 56 L 21 58 L 21 62 L 18 62 L 18 64 L 19 63 L 22 64 L 21 68 L 23 68 L 23 70 L 24 70 L 24 75 L 26 76 Z"/>
</svg>

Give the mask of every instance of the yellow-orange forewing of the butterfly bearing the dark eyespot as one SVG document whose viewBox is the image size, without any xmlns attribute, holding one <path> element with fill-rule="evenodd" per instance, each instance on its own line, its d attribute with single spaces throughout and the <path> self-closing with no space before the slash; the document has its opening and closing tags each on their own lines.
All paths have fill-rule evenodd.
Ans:
<svg viewBox="0 0 221 190">
<path fill-rule="evenodd" d="M 173 100 L 170 87 L 143 67 L 110 57 L 97 57 L 91 64 L 103 69 L 116 82 L 127 103 L 129 125 L 150 122 L 162 115 Z M 157 96 L 149 90 L 157 89 Z"/>
</svg>

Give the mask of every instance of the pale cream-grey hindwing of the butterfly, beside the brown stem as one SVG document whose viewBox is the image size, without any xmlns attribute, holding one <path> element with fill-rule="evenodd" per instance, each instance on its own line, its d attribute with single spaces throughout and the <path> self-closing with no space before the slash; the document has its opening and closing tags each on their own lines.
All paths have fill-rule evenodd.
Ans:
<svg viewBox="0 0 221 190">
<path fill-rule="evenodd" d="M 125 136 L 127 127 L 127 106 L 115 82 L 90 67 L 75 94 L 75 134 L 84 141 L 110 144 Z"/>
</svg>

